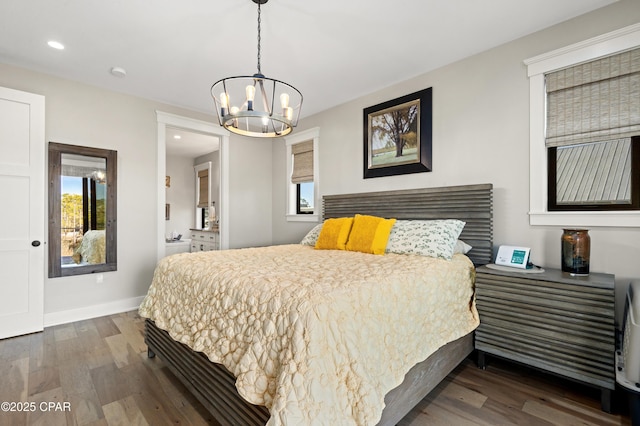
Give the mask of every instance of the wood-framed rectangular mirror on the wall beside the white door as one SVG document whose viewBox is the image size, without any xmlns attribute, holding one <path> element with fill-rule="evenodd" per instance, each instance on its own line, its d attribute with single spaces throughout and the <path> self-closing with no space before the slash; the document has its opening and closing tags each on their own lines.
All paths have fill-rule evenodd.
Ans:
<svg viewBox="0 0 640 426">
<path fill-rule="evenodd" d="M 117 269 L 117 151 L 49 142 L 49 278 Z"/>
</svg>

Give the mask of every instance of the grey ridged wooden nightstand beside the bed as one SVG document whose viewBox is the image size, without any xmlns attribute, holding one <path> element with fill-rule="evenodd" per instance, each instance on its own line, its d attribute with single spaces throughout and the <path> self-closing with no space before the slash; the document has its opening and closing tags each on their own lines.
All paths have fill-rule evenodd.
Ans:
<svg viewBox="0 0 640 426">
<path fill-rule="evenodd" d="M 477 269 L 478 366 L 485 354 L 517 361 L 600 388 L 611 412 L 615 389 L 614 276 L 572 277 Z"/>
</svg>

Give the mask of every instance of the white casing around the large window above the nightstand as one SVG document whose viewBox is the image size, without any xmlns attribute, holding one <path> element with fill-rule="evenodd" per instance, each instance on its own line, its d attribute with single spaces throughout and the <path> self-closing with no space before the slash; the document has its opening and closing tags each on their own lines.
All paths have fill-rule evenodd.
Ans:
<svg viewBox="0 0 640 426">
<path fill-rule="evenodd" d="M 640 226 L 640 210 L 553 210 L 549 204 L 549 148 L 545 76 L 576 64 L 594 61 L 640 46 L 640 24 L 635 24 L 525 61 L 530 84 L 530 211 L 532 225 Z M 604 140 L 611 140 L 611 137 Z M 637 172 L 636 172 L 637 173 Z"/>
</svg>

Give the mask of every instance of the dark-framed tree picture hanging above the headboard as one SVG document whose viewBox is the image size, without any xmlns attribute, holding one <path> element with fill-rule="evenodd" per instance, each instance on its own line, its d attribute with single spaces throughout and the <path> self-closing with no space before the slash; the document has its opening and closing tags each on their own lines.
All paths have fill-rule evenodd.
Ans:
<svg viewBox="0 0 640 426">
<path fill-rule="evenodd" d="M 364 179 L 430 172 L 432 88 L 364 109 Z"/>
</svg>

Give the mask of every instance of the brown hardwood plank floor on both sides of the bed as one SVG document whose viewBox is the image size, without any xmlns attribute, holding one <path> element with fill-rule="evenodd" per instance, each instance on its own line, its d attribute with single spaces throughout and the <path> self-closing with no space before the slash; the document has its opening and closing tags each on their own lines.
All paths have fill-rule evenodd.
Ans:
<svg viewBox="0 0 640 426">
<path fill-rule="evenodd" d="M 135 312 L 0 340 L 0 425 L 217 424 L 160 359 L 148 359 Z M 511 363 L 463 362 L 399 424 L 630 425 L 599 392 Z M 7 411 L 21 409 L 23 411 Z"/>
</svg>

